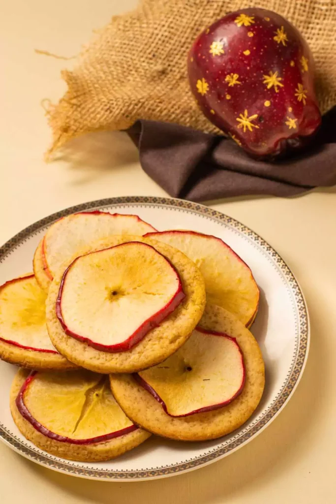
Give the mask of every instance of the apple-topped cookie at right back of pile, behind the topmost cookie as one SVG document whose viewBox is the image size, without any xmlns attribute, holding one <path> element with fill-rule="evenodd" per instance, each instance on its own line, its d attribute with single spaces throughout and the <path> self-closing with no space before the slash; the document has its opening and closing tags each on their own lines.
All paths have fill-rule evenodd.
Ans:
<svg viewBox="0 0 336 504">
<path fill-rule="evenodd" d="M 259 289 L 250 268 L 223 240 L 194 231 L 163 231 L 145 236 L 178 248 L 200 269 L 207 301 L 233 313 L 247 327 L 253 323 Z"/>
</svg>

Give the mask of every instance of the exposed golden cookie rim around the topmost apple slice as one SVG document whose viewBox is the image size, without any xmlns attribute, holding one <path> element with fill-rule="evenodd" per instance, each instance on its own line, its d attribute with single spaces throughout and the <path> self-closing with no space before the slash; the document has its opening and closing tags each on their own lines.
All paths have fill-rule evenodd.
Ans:
<svg viewBox="0 0 336 504">
<path fill-rule="evenodd" d="M 122 352 L 106 352 L 67 335 L 57 318 L 56 302 L 63 271 L 52 281 L 46 301 L 46 321 L 55 348 L 75 364 L 100 373 L 136 372 L 165 360 L 189 338 L 199 322 L 206 303 L 205 285 L 197 266 L 179 250 L 140 236 L 110 236 L 79 250 L 76 257 L 126 242 L 149 244 L 177 270 L 182 282 L 184 299 L 158 327 L 150 330 L 136 346 Z M 69 264 L 63 265 L 65 270 Z M 141 264 L 139 265 L 141 268 Z"/>
</svg>

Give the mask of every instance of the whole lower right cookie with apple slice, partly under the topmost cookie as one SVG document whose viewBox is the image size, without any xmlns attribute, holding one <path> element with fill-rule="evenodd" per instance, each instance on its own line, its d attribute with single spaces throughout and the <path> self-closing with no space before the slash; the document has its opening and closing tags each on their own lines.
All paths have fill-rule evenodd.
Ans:
<svg viewBox="0 0 336 504">
<path fill-rule="evenodd" d="M 155 434 L 187 441 L 213 439 L 240 427 L 264 388 L 258 344 L 230 312 L 207 305 L 188 341 L 163 363 L 111 374 L 125 414 Z"/>
</svg>

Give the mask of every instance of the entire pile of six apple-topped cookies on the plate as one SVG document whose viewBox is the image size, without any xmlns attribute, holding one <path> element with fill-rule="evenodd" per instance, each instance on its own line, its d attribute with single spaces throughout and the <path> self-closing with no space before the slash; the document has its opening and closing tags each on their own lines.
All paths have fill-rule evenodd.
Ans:
<svg viewBox="0 0 336 504">
<path fill-rule="evenodd" d="M 21 366 L 11 412 L 40 449 L 109 460 L 151 433 L 223 436 L 257 407 L 259 290 L 221 239 L 81 212 L 47 229 L 33 270 L 0 287 L 0 357 Z"/>
</svg>

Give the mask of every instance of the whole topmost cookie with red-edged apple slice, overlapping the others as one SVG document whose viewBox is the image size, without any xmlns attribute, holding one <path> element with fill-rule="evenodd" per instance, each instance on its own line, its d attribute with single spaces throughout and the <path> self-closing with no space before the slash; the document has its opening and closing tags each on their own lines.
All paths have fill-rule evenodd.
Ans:
<svg viewBox="0 0 336 504">
<path fill-rule="evenodd" d="M 139 236 L 111 236 L 80 251 L 52 281 L 47 328 L 57 350 L 96 372 L 134 372 L 174 353 L 205 307 L 197 266 Z"/>
</svg>

